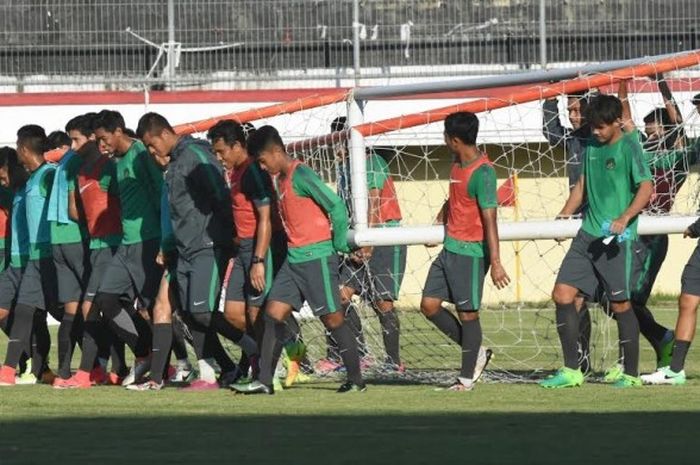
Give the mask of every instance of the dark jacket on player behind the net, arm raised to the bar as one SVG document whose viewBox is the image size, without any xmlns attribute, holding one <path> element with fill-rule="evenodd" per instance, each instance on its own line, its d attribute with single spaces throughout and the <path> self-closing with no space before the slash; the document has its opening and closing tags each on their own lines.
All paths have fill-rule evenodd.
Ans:
<svg viewBox="0 0 700 465">
<path fill-rule="evenodd" d="M 583 155 L 591 137 L 590 129 L 583 126 L 573 131 L 562 126 L 559 121 L 559 106 L 556 99 L 545 100 L 542 105 L 542 113 L 542 133 L 549 145 L 555 147 L 564 143 L 566 176 L 569 178 L 569 189 L 571 189 L 581 177 Z"/>
</svg>

